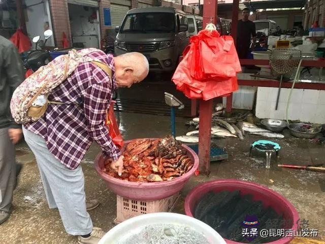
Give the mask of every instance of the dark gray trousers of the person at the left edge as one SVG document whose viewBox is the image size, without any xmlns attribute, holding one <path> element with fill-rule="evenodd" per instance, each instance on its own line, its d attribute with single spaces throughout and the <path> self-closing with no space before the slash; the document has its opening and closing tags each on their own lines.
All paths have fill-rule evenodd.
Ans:
<svg viewBox="0 0 325 244">
<path fill-rule="evenodd" d="M 0 210 L 10 212 L 16 184 L 15 146 L 8 134 L 9 128 L 0 129 Z"/>
</svg>

